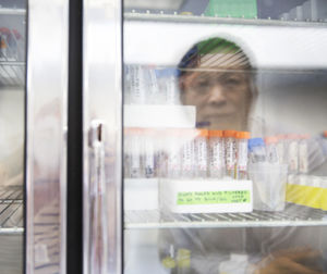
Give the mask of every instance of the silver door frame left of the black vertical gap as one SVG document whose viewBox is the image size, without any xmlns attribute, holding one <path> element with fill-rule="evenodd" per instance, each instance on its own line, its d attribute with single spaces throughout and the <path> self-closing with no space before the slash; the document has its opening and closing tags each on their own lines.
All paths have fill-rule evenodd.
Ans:
<svg viewBox="0 0 327 274">
<path fill-rule="evenodd" d="M 69 1 L 29 0 L 25 272 L 66 272 Z"/>
</svg>

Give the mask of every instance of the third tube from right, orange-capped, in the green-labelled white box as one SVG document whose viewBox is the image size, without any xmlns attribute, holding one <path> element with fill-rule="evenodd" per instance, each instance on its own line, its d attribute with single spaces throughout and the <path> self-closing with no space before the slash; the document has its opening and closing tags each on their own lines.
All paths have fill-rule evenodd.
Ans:
<svg viewBox="0 0 327 274">
<path fill-rule="evenodd" d="M 222 130 L 209 130 L 209 176 L 222 178 L 225 173 L 225 145 Z"/>
</svg>

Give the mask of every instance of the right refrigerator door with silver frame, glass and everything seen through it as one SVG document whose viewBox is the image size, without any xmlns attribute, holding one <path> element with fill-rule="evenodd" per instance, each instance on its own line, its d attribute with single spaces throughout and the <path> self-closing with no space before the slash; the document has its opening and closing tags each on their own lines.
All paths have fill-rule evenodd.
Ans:
<svg viewBox="0 0 327 274">
<path fill-rule="evenodd" d="M 326 273 L 326 1 L 84 3 L 85 273 Z"/>
</svg>

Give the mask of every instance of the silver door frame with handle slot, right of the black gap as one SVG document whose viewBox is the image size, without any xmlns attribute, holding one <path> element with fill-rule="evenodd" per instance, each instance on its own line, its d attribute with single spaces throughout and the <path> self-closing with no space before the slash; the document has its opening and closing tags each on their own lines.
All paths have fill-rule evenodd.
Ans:
<svg viewBox="0 0 327 274">
<path fill-rule="evenodd" d="M 122 3 L 83 7 L 83 270 L 122 273 Z"/>
</svg>

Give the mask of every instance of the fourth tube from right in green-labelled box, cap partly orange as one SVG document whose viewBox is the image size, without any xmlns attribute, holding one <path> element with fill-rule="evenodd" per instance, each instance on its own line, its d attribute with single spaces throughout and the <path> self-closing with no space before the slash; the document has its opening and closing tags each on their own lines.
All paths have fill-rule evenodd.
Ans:
<svg viewBox="0 0 327 274">
<path fill-rule="evenodd" d="M 195 138 L 195 176 L 207 177 L 207 138 L 208 129 L 199 129 Z"/>
</svg>

